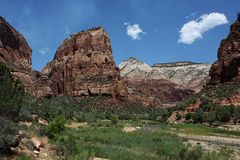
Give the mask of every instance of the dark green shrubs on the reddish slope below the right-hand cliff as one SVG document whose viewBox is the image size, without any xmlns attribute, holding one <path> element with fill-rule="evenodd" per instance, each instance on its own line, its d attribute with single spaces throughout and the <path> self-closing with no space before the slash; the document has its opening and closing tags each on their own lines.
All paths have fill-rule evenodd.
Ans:
<svg viewBox="0 0 240 160">
<path fill-rule="evenodd" d="M 208 122 L 211 125 L 226 122 L 237 123 L 240 122 L 240 108 L 220 105 L 218 102 L 223 98 L 230 98 L 239 91 L 240 83 L 221 85 L 214 89 L 205 88 L 192 98 L 178 104 L 175 109 L 185 110 L 190 104 L 202 102 L 200 108 L 194 113 L 185 115 L 186 120 L 192 120 L 194 123 Z"/>
</svg>

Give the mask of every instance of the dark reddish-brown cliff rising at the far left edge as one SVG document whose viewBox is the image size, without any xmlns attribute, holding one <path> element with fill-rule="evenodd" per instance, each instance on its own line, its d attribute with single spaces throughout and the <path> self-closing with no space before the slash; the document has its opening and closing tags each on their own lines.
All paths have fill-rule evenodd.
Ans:
<svg viewBox="0 0 240 160">
<path fill-rule="evenodd" d="M 32 50 L 24 37 L 18 33 L 4 18 L 0 17 L 0 62 L 11 69 L 26 90 L 32 86 Z"/>
</svg>

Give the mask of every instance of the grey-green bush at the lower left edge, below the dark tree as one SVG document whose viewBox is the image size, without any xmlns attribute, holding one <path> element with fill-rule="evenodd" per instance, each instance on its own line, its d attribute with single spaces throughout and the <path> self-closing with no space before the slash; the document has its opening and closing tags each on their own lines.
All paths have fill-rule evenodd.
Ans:
<svg viewBox="0 0 240 160">
<path fill-rule="evenodd" d="M 8 150 L 19 144 L 18 126 L 6 117 L 0 117 L 0 150 Z"/>
</svg>

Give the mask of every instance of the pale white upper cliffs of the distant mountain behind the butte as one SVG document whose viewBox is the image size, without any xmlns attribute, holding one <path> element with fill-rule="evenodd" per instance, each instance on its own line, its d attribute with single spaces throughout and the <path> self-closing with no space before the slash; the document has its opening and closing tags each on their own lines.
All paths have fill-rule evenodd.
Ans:
<svg viewBox="0 0 240 160">
<path fill-rule="evenodd" d="M 207 63 L 193 62 L 155 64 L 151 67 L 135 58 L 129 58 L 119 65 L 122 77 L 166 79 L 196 92 L 208 82 L 210 67 L 211 65 Z"/>
</svg>

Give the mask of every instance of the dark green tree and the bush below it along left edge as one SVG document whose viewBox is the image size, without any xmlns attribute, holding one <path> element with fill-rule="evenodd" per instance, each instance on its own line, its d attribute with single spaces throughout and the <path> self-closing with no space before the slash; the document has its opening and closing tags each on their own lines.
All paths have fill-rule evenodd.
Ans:
<svg viewBox="0 0 240 160">
<path fill-rule="evenodd" d="M 1 63 L 0 82 L 0 151 L 5 151 L 19 143 L 15 122 L 23 103 L 24 89 L 20 81 L 14 79 L 9 69 Z"/>
</svg>

